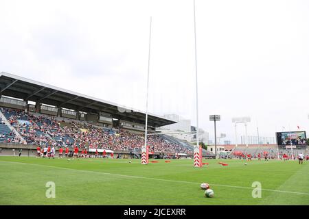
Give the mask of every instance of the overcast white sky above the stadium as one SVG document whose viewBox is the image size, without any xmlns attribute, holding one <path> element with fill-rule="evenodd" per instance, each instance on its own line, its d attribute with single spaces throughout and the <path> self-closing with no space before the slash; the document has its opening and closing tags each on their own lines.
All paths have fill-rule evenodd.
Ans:
<svg viewBox="0 0 309 219">
<path fill-rule="evenodd" d="M 0 0 L 0 71 L 196 125 L 193 0 Z M 196 0 L 199 125 L 308 131 L 309 1 Z M 239 127 L 239 136 L 244 127 Z"/>
</svg>

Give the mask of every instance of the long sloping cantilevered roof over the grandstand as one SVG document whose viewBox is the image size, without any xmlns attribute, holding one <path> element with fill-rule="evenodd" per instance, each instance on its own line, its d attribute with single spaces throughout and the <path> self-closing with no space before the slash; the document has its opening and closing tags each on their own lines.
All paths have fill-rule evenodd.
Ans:
<svg viewBox="0 0 309 219">
<path fill-rule="evenodd" d="M 0 73 L 0 95 L 87 113 L 104 112 L 113 118 L 140 124 L 145 124 L 146 120 L 145 112 L 10 73 Z M 173 123 L 176 121 L 148 113 L 149 126 L 161 127 Z"/>
</svg>

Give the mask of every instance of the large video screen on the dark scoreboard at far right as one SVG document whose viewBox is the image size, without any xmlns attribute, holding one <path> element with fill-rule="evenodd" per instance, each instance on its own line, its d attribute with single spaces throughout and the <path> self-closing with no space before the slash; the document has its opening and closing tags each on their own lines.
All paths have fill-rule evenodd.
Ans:
<svg viewBox="0 0 309 219">
<path fill-rule="evenodd" d="M 306 131 L 286 131 L 277 132 L 277 144 L 288 145 L 306 145 Z"/>
</svg>

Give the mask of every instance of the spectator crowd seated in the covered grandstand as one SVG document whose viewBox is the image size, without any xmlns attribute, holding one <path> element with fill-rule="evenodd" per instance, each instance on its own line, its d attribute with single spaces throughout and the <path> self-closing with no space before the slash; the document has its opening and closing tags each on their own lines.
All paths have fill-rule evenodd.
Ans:
<svg viewBox="0 0 309 219">
<path fill-rule="evenodd" d="M 77 120 L 67 124 L 63 120 L 41 114 L 27 114 L 23 110 L 1 108 L 10 125 L 25 139 L 27 144 L 53 146 L 78 146 L 90 149 L 110 149 L 113 151 L 132 151 L 144 145 L 144 135 L 131 133 L 124 129 L 114 130 L 79 123 Z M 61 125 L 60 122 L 63 122 Z M 168 142 L 161 136 L 148 136 L 150 152 L 154 153 L 192 153 L 182 145 Z M 16 143 L 22 140 L 16 138 Z"/>
</svg>

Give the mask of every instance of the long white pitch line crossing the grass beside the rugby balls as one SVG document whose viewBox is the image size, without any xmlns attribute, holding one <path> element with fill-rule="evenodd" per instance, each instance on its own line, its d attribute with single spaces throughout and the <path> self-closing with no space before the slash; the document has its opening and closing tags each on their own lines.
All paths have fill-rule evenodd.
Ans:
<svg viewBox="0 0 309 219">
<path fill-rule="evenodd" d="M 0 161 L 0 162 L 7 162 L 7 161 Z M 23 162 L 7 162 L 7 163 L 13 163 L 13 164 L 28 164 L 28 163 L 23 163 Z M 48 166 L 48 165 L 42 165 L 42 164 L 28 164 L 28 165 L 34 165 L 34 166 L 45 166 L 49 168 L 59 168 L 63 170 L 75 170 L 79 172 L 94 172 L 94 173 L 99 173 L 103 175 L 113 175 L 117 177 L 128 177 L 128 178 L 135 178 L 135 179 L 150 179 L 150 180 L 157 180 L 157 181 L 168 181 L 168 182 L 174 182 L 174 183 L 189 183 L 189 184 L 200 184 L 200 183 L 195 183 L 195 182 L 189 182 L 189 181 L 177 181 L 177 180 L 172 180 L 172 179 L 158 179 L 158 178 L 152 178 L 152 177 L 140 177 L 140 176 L 132 176 L 132 175 L 121 175 L 121 174 L 115 174 L 115 173 L 109 173 L 109 172 L 98 172 L 98 171 L 92 171 L 92 170 L 78 170 L 78 169 L 71 169 L 71 168 L 64 168 L 64 167 L 59 167 L 59 166 Z M 214 186 L 219 186 L 219 187 L 227 187 L 227 188 L 238 188 L 238 189 L 246 189 L 246 190 L 252 190 L 253 188 L 251 187 L 244 187 L 244 186 L 236 186 L 236 185 L 220 185 L 220 184 L 214 184 L 214 183 L 209 183 Z M 290 191 L 284 191 L 284 190 L 269 190 L 269 189 L 262 189 L 262 191 L 268 191 L 268 192 L 282 192 L 282 193 L 290 193 L 290 194 L 303 194 L 309 196 L 309 193 L 305 192 L 290 192 Z"/>
</svg>

